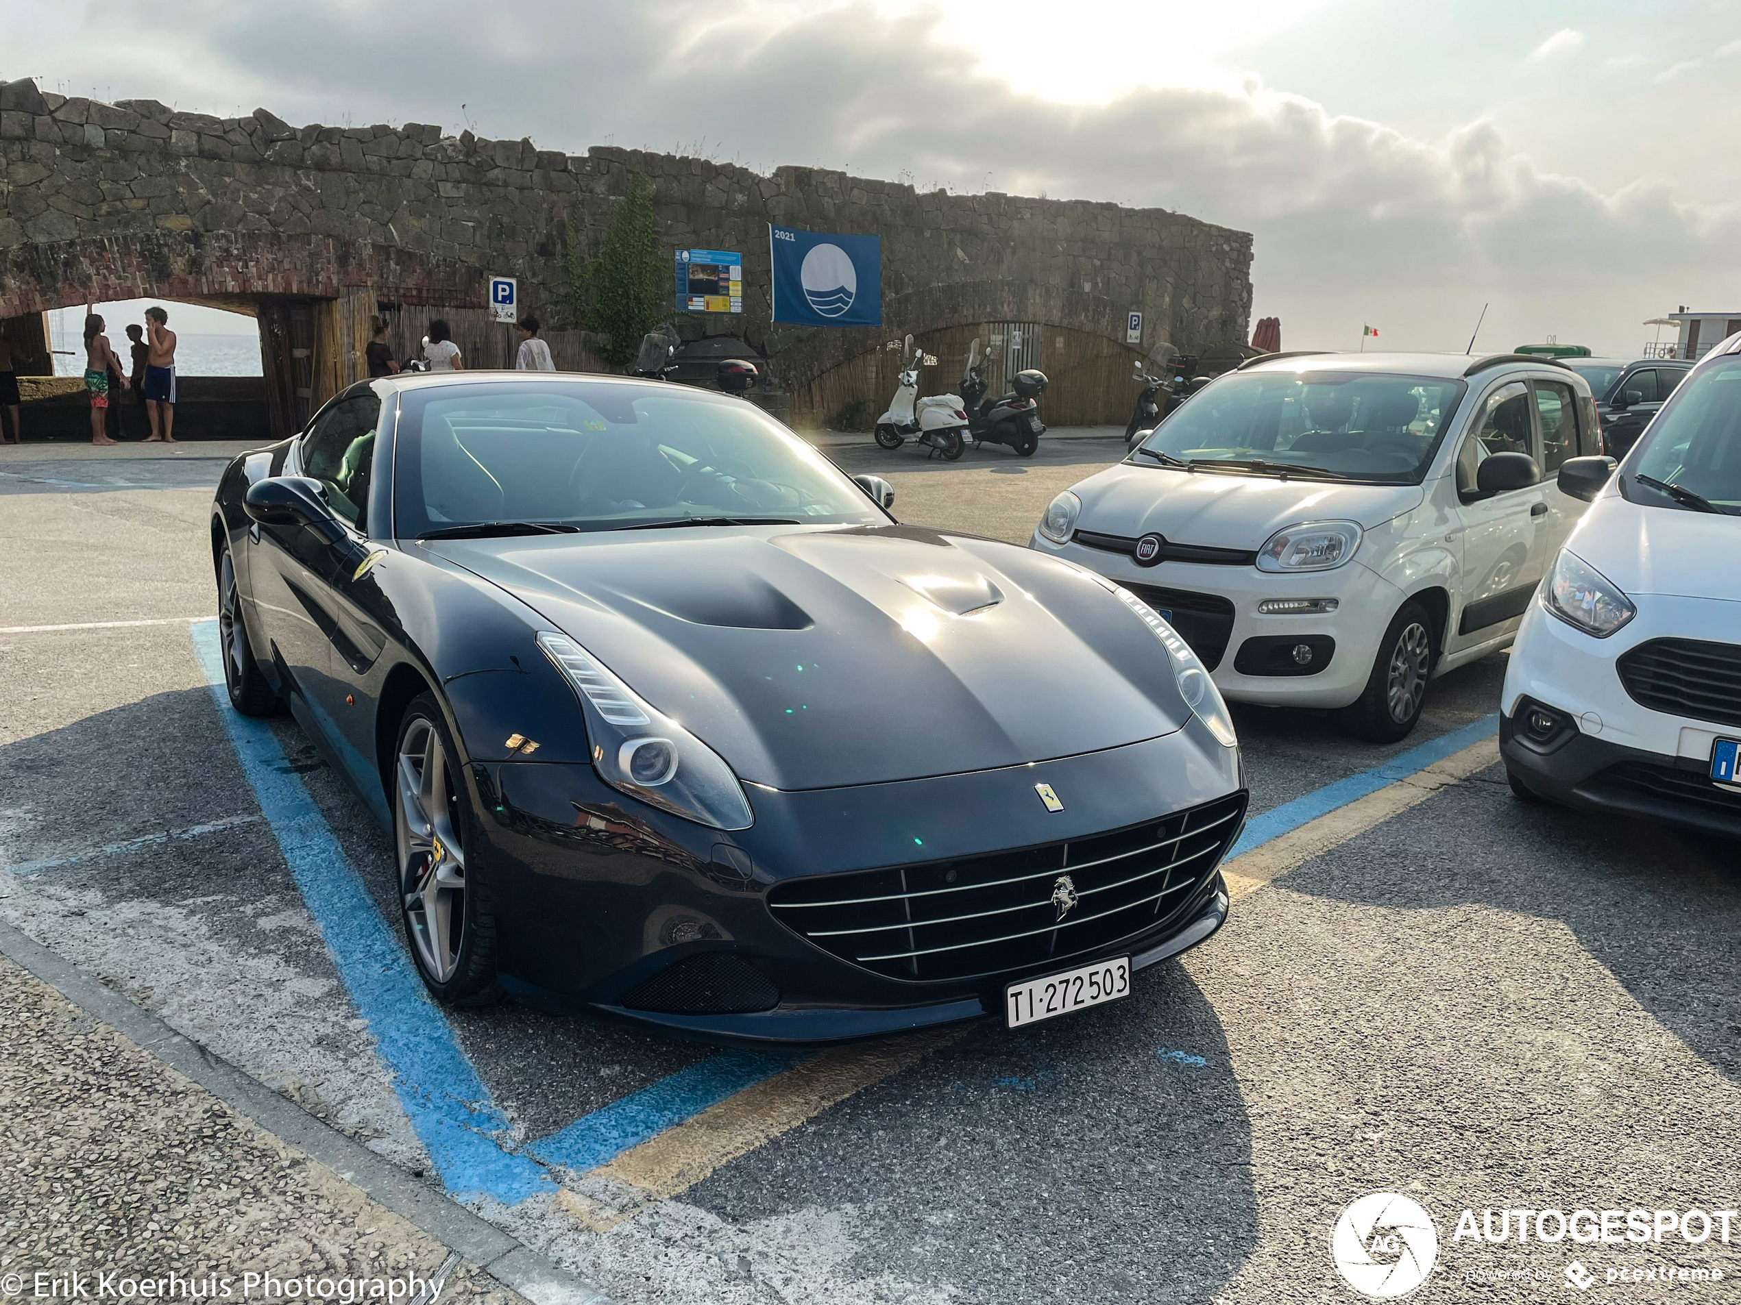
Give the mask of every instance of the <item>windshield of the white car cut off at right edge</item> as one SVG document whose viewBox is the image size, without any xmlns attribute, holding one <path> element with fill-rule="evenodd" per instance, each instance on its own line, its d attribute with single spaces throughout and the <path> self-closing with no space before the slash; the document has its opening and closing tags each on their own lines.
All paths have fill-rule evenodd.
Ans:
<svg viewBox="0 0 1741 1305">
<path fill-rule="evenodd" d="M 1652 508 L 1741 515 L 1741 358 L 1675 392 L 1626 459 L 1621 491 Z"/>
</svg>

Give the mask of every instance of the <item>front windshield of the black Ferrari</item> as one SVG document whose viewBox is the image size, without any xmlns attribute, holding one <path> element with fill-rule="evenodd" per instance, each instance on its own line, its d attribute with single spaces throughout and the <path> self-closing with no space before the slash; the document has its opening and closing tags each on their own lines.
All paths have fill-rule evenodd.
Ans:
<svg viewBox="0 0 1741 1305">
<path fill-rule="evenodd" d="M 393 484 L 402 538 L 886 520 L 858 485 L 763 412 L 681 385 L 406 390 Z"/>
</svg>

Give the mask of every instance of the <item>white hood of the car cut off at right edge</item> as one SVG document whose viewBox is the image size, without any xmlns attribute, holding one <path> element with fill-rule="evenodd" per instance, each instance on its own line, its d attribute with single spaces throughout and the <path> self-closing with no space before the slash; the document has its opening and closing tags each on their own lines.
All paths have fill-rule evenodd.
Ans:
<svg viewBox="0 0 1741 1305">
<path fill-rule="evenodd" d="M 1626 593 L 1741 602 L 1741 519 L 1630 503 L 1612 485 L 1565 546 Z"/>
</svg>

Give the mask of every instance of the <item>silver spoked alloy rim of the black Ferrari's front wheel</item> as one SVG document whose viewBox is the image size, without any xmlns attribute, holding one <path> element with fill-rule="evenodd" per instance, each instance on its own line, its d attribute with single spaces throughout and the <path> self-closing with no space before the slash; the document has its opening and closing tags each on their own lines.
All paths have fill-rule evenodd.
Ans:
<svg viewBox="0 0 1741 1305">
<path fill-rule="evenodd" d="M 399 889 L 418 964 L 435 983 L 460 967 L 465 945 L 465 849 L 447 748 L 427 717 L 406 729 L 397 757 Z"/>
</svg>

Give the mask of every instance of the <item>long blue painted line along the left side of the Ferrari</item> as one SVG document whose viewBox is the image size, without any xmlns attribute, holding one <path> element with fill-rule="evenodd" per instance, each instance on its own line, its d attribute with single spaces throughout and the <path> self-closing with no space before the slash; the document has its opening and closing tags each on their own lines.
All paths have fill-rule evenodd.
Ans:
<svg viewBox="0 0 1741 1305">
<path fill-rule="evenodd" d="M 449 1192 L 493 1195 L 517 1204 L 555 1187 L 526 1155 L 505 1152 L 508 1119 L 489 1100 L 453 1028 L 423 990 L 397 934 L 374 908 L 355 867 L 303 781 L 289 769 L 272 727 L 233 706 L 223 687 L 218 623 L 190 626 L 193 651 L 218 703 L 218 719 L 235 746 L 259 811 L 277 835 L 296 887 L 308 905 L 350 992 L 367 1021 L 393 1089 Z"/>
</svg>

